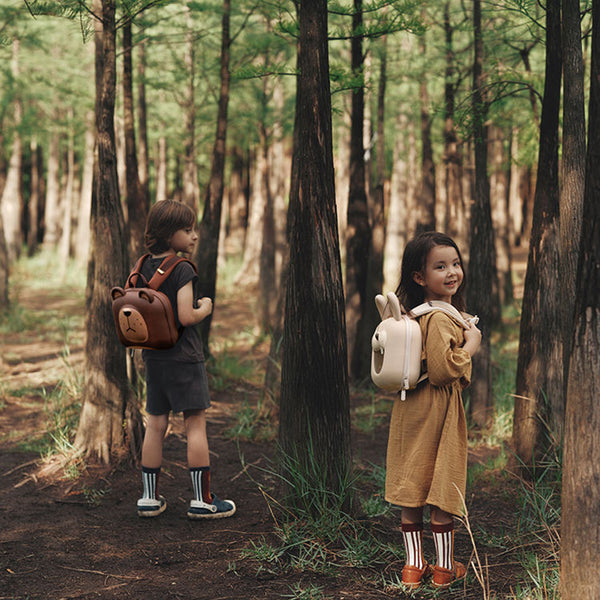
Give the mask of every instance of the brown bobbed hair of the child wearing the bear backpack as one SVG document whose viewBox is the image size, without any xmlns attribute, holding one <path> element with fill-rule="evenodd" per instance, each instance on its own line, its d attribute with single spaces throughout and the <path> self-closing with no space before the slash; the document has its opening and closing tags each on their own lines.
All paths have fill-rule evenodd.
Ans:
<svg viewBox="0 0 600 600">
<path fill-rule="evenodd" d="M 152 254 L 166 252 L 169 241 L 179 229 L 193 227 L 196 224 L 196 212 L 183 202 L 160 200 L 148 213 L 144 243 Z"/>
</svg>

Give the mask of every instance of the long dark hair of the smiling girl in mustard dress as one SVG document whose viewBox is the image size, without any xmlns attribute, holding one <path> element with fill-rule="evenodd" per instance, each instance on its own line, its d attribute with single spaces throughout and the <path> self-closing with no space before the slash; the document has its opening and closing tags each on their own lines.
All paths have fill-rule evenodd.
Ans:
<svg viewBox="0 0 600 600">
<path fill-rule="evenodd" d="M 460 250 L 456 242 L 445 233 L 438 231 L 425 231 L 414 237 L 404 248 L 402 257 L 402 271 L 400 274 L 400 284 L 396 290 L 396 295 L 400 299 L 400 303 L 407 309 L 411 310 L 419 304 L 425 302 L 425 291 L 415 280 L 415 273 L 422 273 L 427 263 L 427 256 L 434 246 L 451 246 L 458 254 L 460 264 L 464 265 Z M 467 275 L 464 274 L 463 281 L 452 296 L 452 305 L 458 310 L 465 310 L 465 300 L 463 297 L 463 289 L 467 282 Z"/>
</svg>

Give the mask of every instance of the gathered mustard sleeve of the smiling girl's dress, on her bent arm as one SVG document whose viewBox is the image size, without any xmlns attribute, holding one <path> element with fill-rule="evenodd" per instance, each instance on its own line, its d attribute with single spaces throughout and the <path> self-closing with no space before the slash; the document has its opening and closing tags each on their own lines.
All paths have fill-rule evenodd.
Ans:
<svg viewBox="0 0 600 600">
<path fill-rule="evenodd" d="M 444 386 L 460 380 L 471 382 L 471 355 L 462 348 L 464 336 L 459 325 L 441 312 L 431 313 L 426 323 L 425 354 L 429 381 Z"/>
</svg>

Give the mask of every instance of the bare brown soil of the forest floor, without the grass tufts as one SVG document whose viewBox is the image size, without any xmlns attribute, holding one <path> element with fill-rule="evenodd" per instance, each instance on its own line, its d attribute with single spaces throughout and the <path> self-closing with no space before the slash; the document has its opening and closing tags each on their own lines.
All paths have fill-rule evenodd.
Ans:
<svg viewBox="0 0 600 600">
<path fill-rule="evenodd" d="M 57 298 L 21 294 L 19 303 L 35 312 L 82 311 Z M 250 346 L 236 336 L 252 322 L 251 309 L 240 303 L 223 303 L 215 314 L 213 339 L 234 340 L 230 352 L 262 361 L 268 348 Z M 246 340 L 251 336 L 246 336 Z M 237 341 L 236 341 L 237 340 Z M 239 341 L 242 340 L 242 341 Z M 161 493 L 166 512 L 156 519 L 139 519 L 135 503 L 141 478 L 135 466 L 88 466 L 74 479 L 45 476 L 56 473 L 27 442 L 39 439 L 49 428 L 47 397 L 39 392 L 58 384 L 68 372 L 83 365 L 83 335 L 74 332 L 70 353 L 64 356 L 61 340 L 40 342 L 35 336 L 5 336 L 0 360 L 0 600 L 67 598 L 179 599 L 384 599 L 403 597 L 386 585 L 402 568 L 400 561 L 372 567 L 341 565 L 331 574 L 299 572 L 262 565 L 242 556 L 252 542 L 276 542 L 275 520 L 259 483 L 271 489 L 268 471 L 274 455 L 272 441 L 236 441 L 228 434 L 241 407 L 256 406 L 257 385 L 239 380 L 225 391 L 213 393 L 209 411 L 212 451 L 212 488 L 233 499 L 238 511 L 230 519 L 190 522 L 186 509 L 191 496 L 185 466 L 185 438 L 180 418 L 173 420 L 165 444 Z M 31 392 L 28 392 L 31 389 Z M 36 391 L 37 390 L 37 391 Z M 360 400 L 353 397 L 353 405 Z M 382 465 L 387 435 L 386 415 L 374 431 L 353 429 L 353 453 L 359 469 Z M 485 464 L 497 449 L 477 446 L 472 463 Z M 62 473 L 62 470 L 59 470 Z M 487 565 L 489 597 L 513 597 L 525 577 L 518 564 L 516 494 L 510 480 L 489 472 L 469 490 L 470 523 L 481 562 Z M 378 490 L 365 490 L 366 494 Z M 382 541 L 401 546 L 399 513 L 368 520 Z M 434 550 L 426 534 L 430 560 Z M 467 528 L 456 532 L 456 556 L 475 560 Z M 322 595 L 315 593 L 321 588 Z M 312 589 L 312 593 L 311 593 Z M 295 591 L 293 591 L 295 590 Z M 302 593 L 301 590 L 304 590 Z M 302 595 L 303 594 L 303 595 Z M 442 593 L 447 597 L 484 597 L 470 572 L 466 585 Z M 431 597 L 425 587 L 417 596 Z"/>
</svg>

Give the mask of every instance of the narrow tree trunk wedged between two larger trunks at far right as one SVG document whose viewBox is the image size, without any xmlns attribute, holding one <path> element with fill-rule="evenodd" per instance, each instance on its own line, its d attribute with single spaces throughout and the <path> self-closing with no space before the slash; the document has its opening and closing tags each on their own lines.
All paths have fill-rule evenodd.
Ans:
<svg viewBox="0 0 600 600">
<path fill-rule="evenodd" d="M 584 65 L 580 2 L 562 0 L 563 136 L 560 172 L 560 282 L 565 355 L 565 385 L 573 332 L 577 253 L 585 187 Z"/>
</svg>

